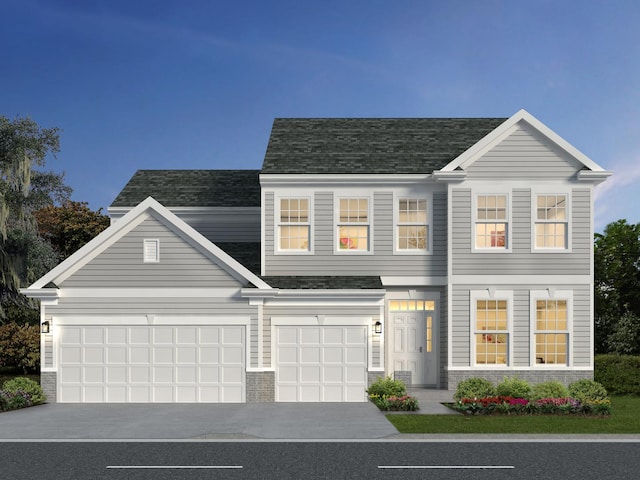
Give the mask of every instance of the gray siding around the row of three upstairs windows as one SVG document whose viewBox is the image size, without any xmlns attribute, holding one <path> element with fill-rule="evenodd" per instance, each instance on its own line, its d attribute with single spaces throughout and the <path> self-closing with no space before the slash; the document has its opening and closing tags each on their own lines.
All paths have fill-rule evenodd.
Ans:
<svg viewBox="0 0 640 480">
<path fill-rule="evenodd" d="M 447 198 L 433 195 L 431 255 L 394 255 L 393 193 L 373 194 L 372 254 L 334 251 L 335 224 L 332 192 L 313 195 L 313 253 L 275 254 L 274 194 L 265 195 L 265 268 L 267 275 L 397 275 L 445 276 L 447 274 Z"/>
</svg>

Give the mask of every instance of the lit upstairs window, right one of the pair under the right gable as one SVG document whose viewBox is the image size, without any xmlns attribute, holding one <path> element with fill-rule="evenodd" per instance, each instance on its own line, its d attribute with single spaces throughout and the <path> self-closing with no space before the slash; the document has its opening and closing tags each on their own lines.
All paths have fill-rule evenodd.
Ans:
<svg viewBox="0 0 640 480">
<path fill-rule="evenodd" d="M 567 249 L 567 195 L 536 195 L 535 248 Z"/>
</svg>

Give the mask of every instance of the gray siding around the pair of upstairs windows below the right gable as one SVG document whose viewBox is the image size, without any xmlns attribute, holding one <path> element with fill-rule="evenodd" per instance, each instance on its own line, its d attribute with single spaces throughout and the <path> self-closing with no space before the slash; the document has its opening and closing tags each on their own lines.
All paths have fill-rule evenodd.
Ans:
<svg viewBox="0 0 640 480">
<path fill-rule="evenodd" d="M 571 205 L 571 252 L 532 252 L 531 190 L 511 190 L 510 253 L 473 252 L 474 218 L 472 191 L 452 190 L 452 271 L 454 275 L 589 275 L 591 239 L 590 191 L 573 188 Z"/>
</svg>

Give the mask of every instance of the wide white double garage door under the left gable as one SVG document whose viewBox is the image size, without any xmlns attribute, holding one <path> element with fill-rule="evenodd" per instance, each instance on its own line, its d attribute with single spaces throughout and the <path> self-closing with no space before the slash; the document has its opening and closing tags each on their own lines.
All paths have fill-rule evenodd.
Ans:
<svg viewBox="0 0 640 480">
<path fill-rule="evenodd" d="M 61 326 L 59 402 L 244 402 L 243 326 Z"/>
</svg>

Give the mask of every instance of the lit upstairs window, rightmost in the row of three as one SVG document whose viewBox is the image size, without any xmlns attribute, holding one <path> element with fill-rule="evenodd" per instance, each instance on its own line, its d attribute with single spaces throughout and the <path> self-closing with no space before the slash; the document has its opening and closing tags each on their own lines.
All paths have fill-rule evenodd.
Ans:
<svg viewBox="0 0 640 480">
<path fill-rule="evenodd" d="M 429 249 L 427 200 L 401 198 L 398 200 L 396 248 L 401 252 Z"/>
</svg>

